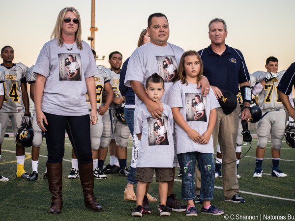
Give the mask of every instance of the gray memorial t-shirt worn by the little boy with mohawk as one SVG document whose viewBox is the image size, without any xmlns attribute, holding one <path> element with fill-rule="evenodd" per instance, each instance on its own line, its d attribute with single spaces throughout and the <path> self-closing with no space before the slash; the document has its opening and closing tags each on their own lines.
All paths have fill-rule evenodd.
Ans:
<svg viewBox="0 0 295 221">
<path fill-rule="evenodd" d="M 134 134 L 140 134 L 140 149 L 137 167 L 173 167 L 173 115 L 171 108 L 163 104 L 161 119 L 155 119 L 146 105 L 134 112 Z"/>
</svg>

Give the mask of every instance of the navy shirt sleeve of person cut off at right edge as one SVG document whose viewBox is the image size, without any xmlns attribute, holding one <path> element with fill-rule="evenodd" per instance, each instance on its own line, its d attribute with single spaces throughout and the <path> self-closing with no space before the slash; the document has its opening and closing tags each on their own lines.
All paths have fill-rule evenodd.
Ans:
<svg viewBox="0 0 295 221">
<path fill-rule="evenodd" d="M 284 94 L 289 95 L 292 92 L 292 86 L 295 85 L 295 62 L 284 73 L 279 85 L 278 90 Z"/>
</svg>

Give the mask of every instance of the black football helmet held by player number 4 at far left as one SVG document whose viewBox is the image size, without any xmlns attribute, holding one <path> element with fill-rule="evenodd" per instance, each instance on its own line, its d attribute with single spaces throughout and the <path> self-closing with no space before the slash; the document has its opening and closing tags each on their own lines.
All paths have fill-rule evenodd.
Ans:
<svg viewBox="0 0 295 221">
<path fill-rule="evenodd" d="M 30 147 L 33 145 L 34 132 L 33 129 L 28 126 L 22 126 L 15 135 L 15 143 L 22 147 Z"/>
</svg>

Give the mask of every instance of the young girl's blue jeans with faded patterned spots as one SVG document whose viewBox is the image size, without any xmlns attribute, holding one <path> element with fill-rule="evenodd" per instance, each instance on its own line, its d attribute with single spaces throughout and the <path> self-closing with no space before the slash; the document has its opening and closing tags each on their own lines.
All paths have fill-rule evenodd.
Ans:
<svg viewBox="0 0 295 221">
<path fill-rule="evenodd" d="M 200 199 L 212 200 L 215 180 L 215 164 L 213 154 L 188 152 L 177 154 L 177 158 L 182 174 L 181 198 L 184 200 L 191 200 L 196 197 L 194 180 L 197 161 L 202 178 Z"/>
</svg>

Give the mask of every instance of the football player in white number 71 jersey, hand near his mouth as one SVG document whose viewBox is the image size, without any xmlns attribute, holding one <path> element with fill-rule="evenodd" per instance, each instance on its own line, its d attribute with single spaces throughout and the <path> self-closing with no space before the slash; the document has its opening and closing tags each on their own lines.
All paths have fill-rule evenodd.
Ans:
<svg viewBox="0 0 295 221">
<path fill-rule="evenodd" d="M 252 89 L 252 93 L 259 97 L 258 103 L 262 109 L 262 119 L 257 122 L 258 144 L 253 177 L 262 177 L 262 163 L 269 134 L 271 135 L 271 175 L 276 177 L 287 176 L 279 169 L 280 150 L 286 127 L 286 113 L 277 92 L 277 86 L 285 71 L 278 72 L 278 65 L 278 59 L 270 56 L 266 59 L 267 72 L 254 73 L 259 83 Z"/>
</svg>

